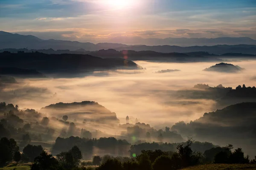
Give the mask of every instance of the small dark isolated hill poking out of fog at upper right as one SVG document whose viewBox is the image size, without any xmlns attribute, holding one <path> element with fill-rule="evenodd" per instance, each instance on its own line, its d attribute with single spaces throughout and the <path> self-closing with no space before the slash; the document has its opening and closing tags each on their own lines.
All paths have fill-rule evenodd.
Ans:
<svg viewBox="0 0 256 170">
<path fill-rule="evenodd" d="M 217 72 L 226 72 L 226 73 L 236 73 L 242 71 L 244 68 L 239 67 L 238 65 L 227 64 L 221 62 L 219 64 L 213 65 L 209 68 L 205 68 L 204 71 L 217 71 Z"/>
</svg>

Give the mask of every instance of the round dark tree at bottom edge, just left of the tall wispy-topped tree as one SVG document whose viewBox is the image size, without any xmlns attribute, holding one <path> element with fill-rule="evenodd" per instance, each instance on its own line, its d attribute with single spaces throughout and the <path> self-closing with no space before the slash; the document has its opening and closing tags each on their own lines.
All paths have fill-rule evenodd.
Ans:
<svg viewBox="0 0 256 170">
<path fill-rule="evenodd" d="M 154 170 L 170 170 L 172 167 L 172 159 L 169 156 L 159 156 L 153 163 Z"/>
</svg>

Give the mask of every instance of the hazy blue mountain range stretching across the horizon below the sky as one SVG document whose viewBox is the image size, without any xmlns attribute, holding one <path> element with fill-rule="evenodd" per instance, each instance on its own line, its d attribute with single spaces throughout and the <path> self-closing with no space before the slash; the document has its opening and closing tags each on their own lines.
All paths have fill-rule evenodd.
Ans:
<svg viewBox="0 0 256 170">
<path fill-rule="evenodd" d="M 145 39 L 146 40 L 146 39 Z M 160 39 L 166 40 L 166 39 Z M 99 51 L 101 49 L 113 48 L 117 51 L 133 50 L 133 51 L 156 51 L 162 53 L 188 53 L 194 51 L 205 51 L 210 54 L 224 54 L 224 53 L 244 53 L 256 54 L 256 40 L 248 37 L 221 37 L 215 39 L 207 38 L 168 38 L 174 43 L 159 42 L 157 46 L 148 45 L 125 45 L 120 43 L 98 43 L 78 41 L 64 41 L 64 40 L 42 40 L 32 35 L 12 34 L 0 31 L 0 49 L 5 48 L 28 48 L 28 49 L 49 49 L 54 50 L 71 50 L 71 51 Z M 120 41 L 121 42 L 121 41 Z M 200 42 L 200 43 L 199 43 Z M 147 44 L 147 43 L 144 43 Z M 165 44 L 165 45 L 162 45 Z M 172 44 L 172 45 L 166 45 Z M 217 45 L 218 44 L 218 45 Z M 225 44 L 225 45 L 222 45 Z M 180 46 L 176 46 L 180 45 Z M 204 46 L 189 46 L 186 45 L 204 45 Z M 213 46 L 206 46 L 213 45 Z M 26 52 L 26 51 L 25 51 Z M 77 52 L 77 53 L 78 53 Z"/>
</svg>

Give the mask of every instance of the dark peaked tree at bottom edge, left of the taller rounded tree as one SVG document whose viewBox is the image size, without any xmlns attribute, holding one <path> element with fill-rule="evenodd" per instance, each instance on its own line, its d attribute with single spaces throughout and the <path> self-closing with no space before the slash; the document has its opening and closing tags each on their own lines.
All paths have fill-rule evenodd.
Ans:
<svg viewBox="0 0 256 170">
<path fill-rule="evenodd" d="M 31 165 L 31 170 L 56 170 L 58 169 L 58 161 L 47 152 L 42 151 Z"/>
</svg>

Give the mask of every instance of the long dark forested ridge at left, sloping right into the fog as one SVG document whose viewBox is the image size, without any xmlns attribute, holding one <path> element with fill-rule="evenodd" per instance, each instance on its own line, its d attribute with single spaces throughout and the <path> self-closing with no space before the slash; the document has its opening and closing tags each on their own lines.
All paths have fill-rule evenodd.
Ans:
<svg viewBox="0 0 256 170">
<path fill-rule="evenodd" d="M 19 52 L 0 53 L 0 67 L 37 70 L 43 74 L 82 74 L 111 69 L 137 69 L 137 64 L 125 59 L 102 59 L 83 54 L 43 54 Z M 13 62 L 15 61 L 15 62 Z M 28 71 L 29 72 L 29 71 Z M 35 71 L 34 71 L 35 72 Z M 21 73 L 21 74 L 22 74 Z M 37 73 L 37 72 L 35 72 Z"/>
</svg>

